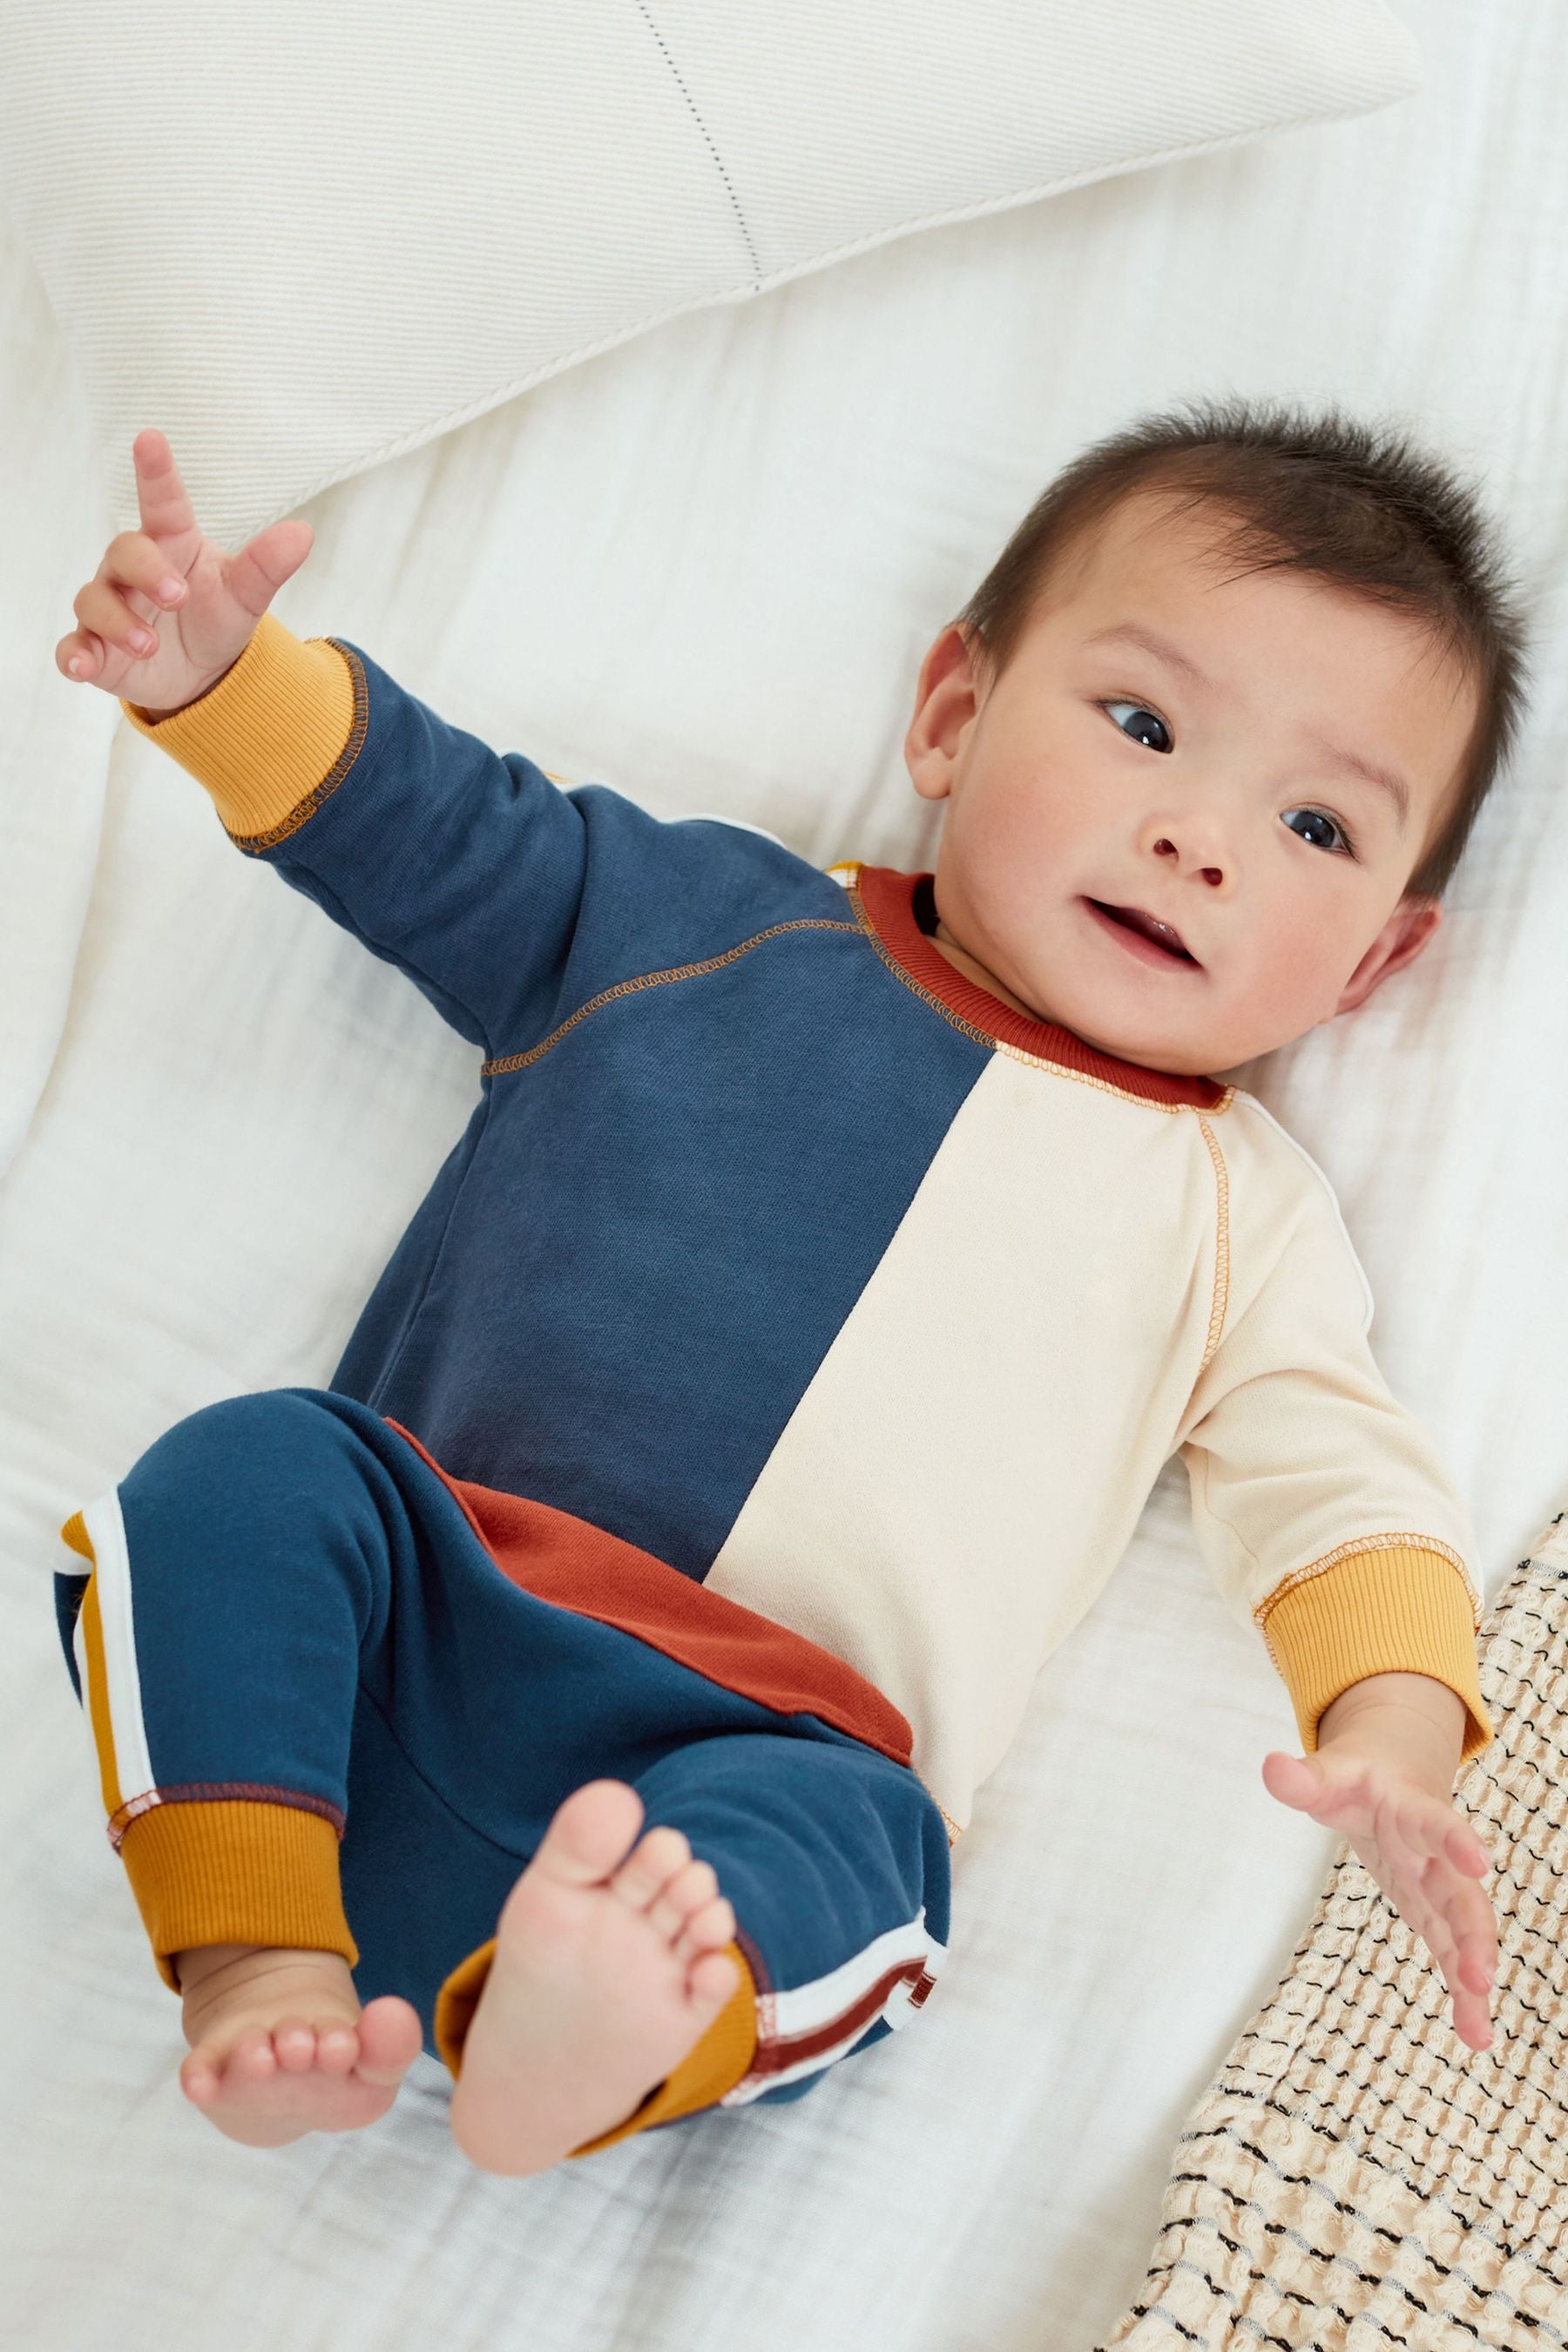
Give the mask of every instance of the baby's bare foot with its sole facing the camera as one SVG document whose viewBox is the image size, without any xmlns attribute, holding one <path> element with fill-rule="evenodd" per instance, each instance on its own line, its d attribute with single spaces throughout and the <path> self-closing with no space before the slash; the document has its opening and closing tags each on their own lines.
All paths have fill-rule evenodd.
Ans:
<svg viewBox="0 0 1568 2352">
<path fill-rule="evenodd" d="M 487 2173 L 541 2173 L 621 2124 L 736 1990 L 736 1915 L 625 1780 L 559 1806 L 512 1886 L 463 2042 L 451 2136 Z"/>
</svg>

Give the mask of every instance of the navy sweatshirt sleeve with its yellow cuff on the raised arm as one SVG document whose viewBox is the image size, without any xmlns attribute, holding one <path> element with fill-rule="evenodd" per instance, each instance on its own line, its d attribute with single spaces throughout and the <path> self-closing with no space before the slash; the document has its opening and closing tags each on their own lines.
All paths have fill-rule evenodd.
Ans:
<svg viewBox="0 0 1568 2352">
<path fill-rule="evenodd" d="M 237 849 L 397 964 L 491 1051 L 548 1025 L 588 861 L 583 804 L 339 637 L 263 614 L 183 710 L 120 706 L 212 795 Z M 602 795 L 602 788 L 592 788 Z"/>
</svg>

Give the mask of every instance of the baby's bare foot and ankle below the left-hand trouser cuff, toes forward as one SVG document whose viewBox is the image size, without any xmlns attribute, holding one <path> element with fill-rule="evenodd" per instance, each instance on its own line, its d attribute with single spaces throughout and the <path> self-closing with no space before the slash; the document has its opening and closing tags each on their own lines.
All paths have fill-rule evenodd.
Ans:
<svg viewBox="0 0 1568 2352">
<path fill-rule="evenodd" d="M 362 2011 L 339 1952 L 207 1943 L 176 1952 L 174 1973 L 190 2044 L 181 2089 L 247 2147 L 374 2124 L 418 2056 L 418 2013 L 395 1992 Z"/>
</svg>

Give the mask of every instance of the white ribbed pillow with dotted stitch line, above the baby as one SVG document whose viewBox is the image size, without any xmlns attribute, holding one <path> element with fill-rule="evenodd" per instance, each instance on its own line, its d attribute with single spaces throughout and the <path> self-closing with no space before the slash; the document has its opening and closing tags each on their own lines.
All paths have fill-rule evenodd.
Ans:
<svg viewBox="0 0 1568 2352">
<path fill-rule="evenodd" d="M 1382 0 L 0 0 L 0 193 L 115 527 L 226 546 L 846 254 L 1418 87 Z"/>
</svg>

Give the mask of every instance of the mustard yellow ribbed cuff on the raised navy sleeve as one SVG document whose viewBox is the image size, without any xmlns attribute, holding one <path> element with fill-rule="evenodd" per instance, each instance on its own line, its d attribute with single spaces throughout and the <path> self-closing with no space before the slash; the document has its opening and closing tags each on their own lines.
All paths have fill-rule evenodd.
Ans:
<svg viewBox="0 0 1568 2352">
<path fill-rule="evenodd" d="M 120 708 L 136 734 L 195 776 L 228 835 L 252 849 L 315 814 L 357 760 L 367 722 L 348 654 L 327 637 L 296 637 L 270 612 L 235 666 L 183 710 Z"/>
</svg>

